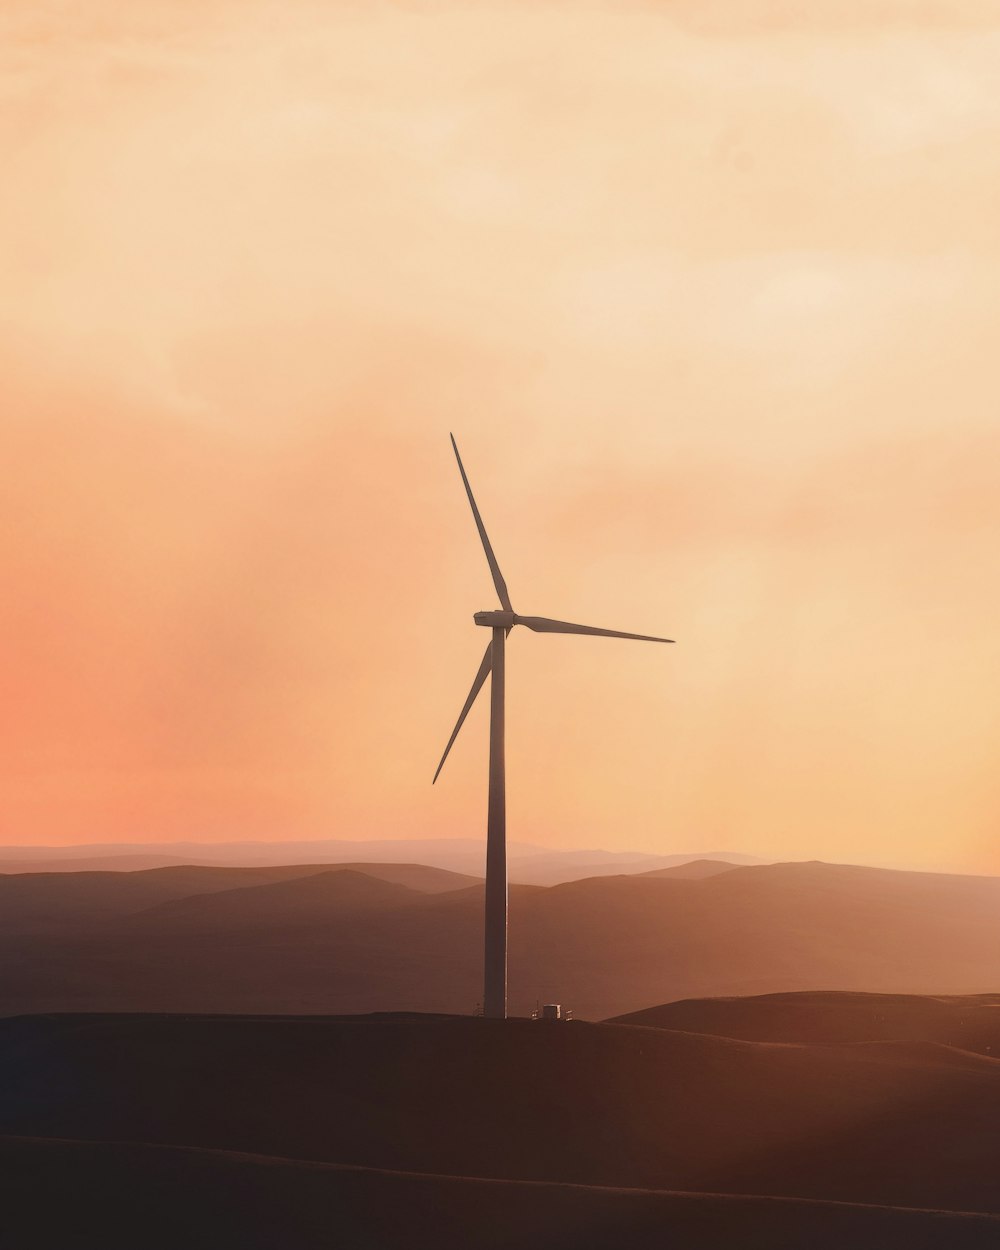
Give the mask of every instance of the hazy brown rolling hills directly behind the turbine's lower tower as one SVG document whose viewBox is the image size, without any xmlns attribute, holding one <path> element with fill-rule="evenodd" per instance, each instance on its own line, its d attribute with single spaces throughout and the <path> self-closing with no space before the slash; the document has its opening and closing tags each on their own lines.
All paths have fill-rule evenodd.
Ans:
<svg viewBox="0 0 1000 1250">
<path fill-rule="evenodd" d="M 511 886 L 510 1002 L 1000 988 L 1000 879 L 831 864 Z M 0 876 L 0 1015 L 470 1012 L 482 888 L 422 865 Z M 804 1040 L 810 1040 L 808 1036 Z"/>
</svg>

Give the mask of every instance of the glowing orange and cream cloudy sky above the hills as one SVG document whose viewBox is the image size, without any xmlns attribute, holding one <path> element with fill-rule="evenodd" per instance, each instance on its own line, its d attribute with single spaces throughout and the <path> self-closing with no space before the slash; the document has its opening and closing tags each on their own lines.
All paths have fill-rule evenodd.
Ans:
<svg viewBox="0 0 1000 1250">
<path fill-rule="evenodd" d="M 878 18 L 872 14 L 878 11 Z M 8 0 L 0 840 L 1000 871 L 988 2 Z"/>
</svg>

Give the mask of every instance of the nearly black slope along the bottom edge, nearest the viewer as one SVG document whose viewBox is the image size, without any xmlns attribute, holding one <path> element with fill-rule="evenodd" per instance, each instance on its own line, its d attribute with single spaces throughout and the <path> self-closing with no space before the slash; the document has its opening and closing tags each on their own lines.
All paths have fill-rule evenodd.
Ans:
<svg viewBox="0 0 1000 1250">
<path fill-rule="evenodd" d="M 0 1138 L 10 1250 L 994 1250 L 1000 1218 Z"/>
</svg>

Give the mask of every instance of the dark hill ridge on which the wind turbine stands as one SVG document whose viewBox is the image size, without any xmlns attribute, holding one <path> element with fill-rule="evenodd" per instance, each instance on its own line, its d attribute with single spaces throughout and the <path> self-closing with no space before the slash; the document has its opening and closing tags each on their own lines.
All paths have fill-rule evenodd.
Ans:
<svg viewBox="0 0 1000 1250">
<path fill-rule="evenodd" d="M 1000 1061 L 931 1044 L 446 1016 L 20 1018 L 0 1021 L 0 1134 L 1000 1212 Z"/>
</svg>

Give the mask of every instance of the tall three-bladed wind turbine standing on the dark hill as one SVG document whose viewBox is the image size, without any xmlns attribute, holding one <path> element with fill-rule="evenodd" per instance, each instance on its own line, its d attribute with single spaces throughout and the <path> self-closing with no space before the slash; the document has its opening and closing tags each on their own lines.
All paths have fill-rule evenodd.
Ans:
<svg viewBox="0 0 1000 1250">
<path fill-rule="evenodd" d="M 508 1014 L 508 846 L 506 846 L 506 786 L 504 775 L 504 644 L 515 625 L 526 625 L 536 634 L 594 634 L 598 638 L 630 638 L 638 642 L 672 642 L 672 638 L 652 638 L 649 634 L 622 634 L 615 629 L 598 629 L 595 625 L 572 625 L 570 621 L 554 621 L 548 616 L 519 616 L 510 602 L 508 584 L 500 572 L 500 565 L 492 554 L 486 526 L 479 515 L 472 488 L 465 475 L 455 435 L 449 435 L 459 461 L 465 494 L 472 509 L 476 529 L 482 540 L 486 560 L 492 574 L 492 584 L 502 604 L 502 611 L 476 612 L 472 618 L 476 625 L 492 630 L 492 638 L 486 646 L 482 664 L 472 681 L 472 689 L 459 712 L 458 722 L 448 740 L 445 754 L 434 774 L 434 781 L 444 768 L 448 752 L 476 695 L 482 689 L 486 678 L 490 681 L 490 805 L 486 820 L 486 949 L 484 962 L 482 1014 L 495 1019 L 505 1019 Z M 431 782 L 432 785 L 434 782 Z"/>
</svg>

